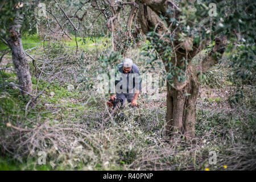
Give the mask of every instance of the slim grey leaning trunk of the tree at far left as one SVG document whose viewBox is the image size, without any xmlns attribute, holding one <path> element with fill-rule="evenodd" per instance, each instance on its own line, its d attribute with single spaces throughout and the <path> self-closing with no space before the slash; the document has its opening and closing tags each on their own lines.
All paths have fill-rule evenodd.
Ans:
<svg viewBox="0 0 256 182">
<path fill-rule="evenodd" d="M 28 65 L 26 55 L 22 46 L 22 37 L 20 27 L 23 22 L 23 14 L 18 14 L 14 24 L 10 26 L 10 36 L 7 43 L 13 56 L 13 64 L 17 71 L 21 93 L 23 95 L 32 94 L 32 81 L 30 75 L 30 66 Z"/>
</svg>

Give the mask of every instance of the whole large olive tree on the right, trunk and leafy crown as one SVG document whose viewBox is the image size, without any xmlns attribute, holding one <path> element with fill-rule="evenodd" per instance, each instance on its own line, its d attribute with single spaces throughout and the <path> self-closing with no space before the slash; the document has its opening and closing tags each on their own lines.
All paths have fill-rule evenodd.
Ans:
<svg viewBox="0 0 256 182">
<path fill-rule="evenodd" d="M 210 16 L 210 3 L 217 14 Z M 139 1 L 142 31 L 162 59 L 167 80 L 166 135 L 195 137 L 196 101 L 201 77 L 231 53 L 236 75 L 255 68 L 255 3 L 253 1 Z M 203 61 L 193 57 L 206 50 Z M 249 72 L 250 72 L 249 71 Z"/>
</svg>

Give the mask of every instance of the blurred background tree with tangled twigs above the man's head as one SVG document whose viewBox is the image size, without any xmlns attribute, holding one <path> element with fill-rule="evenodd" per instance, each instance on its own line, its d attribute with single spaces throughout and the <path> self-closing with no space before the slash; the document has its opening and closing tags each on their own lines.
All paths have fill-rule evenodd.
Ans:
<svg viewBox="0 0 256 182">
<path fill-rule="evenodd" d="M 141 42 L 142 35 L 135 23 L 138 1 L 102 0 L 92 1 L 91 5 L 106 18 L 106 27 L 112 36 L 112 51 L 125 55 L 129 47 Z"/>
</svg>

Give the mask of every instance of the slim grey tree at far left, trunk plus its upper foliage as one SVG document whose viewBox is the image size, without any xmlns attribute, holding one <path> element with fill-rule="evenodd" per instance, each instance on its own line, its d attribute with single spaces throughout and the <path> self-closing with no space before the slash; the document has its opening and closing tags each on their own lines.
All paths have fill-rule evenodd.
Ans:
<svg viewBox="0 0 256 182">
<path fill-rule="evenodd" d="M 30 66 L 28 65 L 26 53 L 23 49 L 21 32 L 24 22 L 26 22 L 27 30 L 32 30 L 32 26 L 28 26 L 29 24 L 27 22 L 27 18 L 31 18 L 30 15 L 32 15 L 31 9 L 28 7 L 28 3 L 13 0 L 2 1 L 0 9 L 0 40 L 11 49 L 20 91 L 24 95 L 32 94 Z M 33 24 L 32 20 L 30 22 L 31 24 Z"/>
</svg>

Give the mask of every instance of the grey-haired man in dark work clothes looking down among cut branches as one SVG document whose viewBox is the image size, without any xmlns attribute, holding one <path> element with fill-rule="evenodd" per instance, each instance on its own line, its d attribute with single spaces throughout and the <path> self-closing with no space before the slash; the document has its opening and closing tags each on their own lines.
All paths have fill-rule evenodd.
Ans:
<svg viewBox="0 0 256 182">
<path fill-rule="evenodd" d="M 139 68 L 133 63 L 130 58 L 125 58 L 123 63 L 117 65 L 119 74 L 115 80 L 115 95 L 110 96 L 111 100 L 114 98 L 122 99 L 122 105 L 131 102 L 132 106 L 137 106 L 139 92 L 141 91 L 141 81 L 139 80 Z"/>
</svg>

